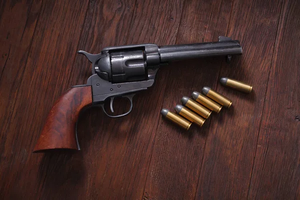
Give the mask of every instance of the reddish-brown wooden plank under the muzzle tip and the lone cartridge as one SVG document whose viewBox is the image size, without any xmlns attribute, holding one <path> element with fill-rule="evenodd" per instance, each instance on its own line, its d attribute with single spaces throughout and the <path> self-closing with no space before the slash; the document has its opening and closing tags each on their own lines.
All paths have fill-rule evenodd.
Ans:
<svg viewBox="0 0 300 200">
<path fill-rule="evenodd" d="M 216 90 L 233 103 L 211 122 L 196 198 L 247 197 L 280 7 L 280 1 L 271 0 L 233 3 L 228 36 L 240 40 L 243 55 L 222 65 L 219 75 L 248 82 L 253 92 L 217 84 Z"/>
</svg>

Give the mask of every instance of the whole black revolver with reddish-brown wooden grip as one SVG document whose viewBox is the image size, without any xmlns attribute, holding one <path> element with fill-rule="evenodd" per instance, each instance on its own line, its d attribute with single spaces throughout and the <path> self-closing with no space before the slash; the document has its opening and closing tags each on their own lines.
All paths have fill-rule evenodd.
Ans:
<svg viewBox="0 0 300 200">
<path fill-rule="evenodd" d="M 159 65 L 170 61 L 224 56 L 230 62 L 231 55 L 239 55 L 242 48 L 238 40 L 219 36 L 218 41 L 192 44 L 158 46 L 156 44 L 133 44 L 105 47 L 99 54 L 79 50 L 92 63 L 92 75 L 85 85 L 66 90 L 49 111 L 33 152 L 50 149 L 76 149 L 79 144 L 76 134 L 80 111 L 90 105 L 101 106 L 109 117 L 120 117 L 132 110 L 135 92 L 152 86 Z M 113 98 L 126 97 L 130 101 L 127 112 L 111 115 L 104 109 L 104 101 L 110 98 L 113 112 Z"/>
</svg>

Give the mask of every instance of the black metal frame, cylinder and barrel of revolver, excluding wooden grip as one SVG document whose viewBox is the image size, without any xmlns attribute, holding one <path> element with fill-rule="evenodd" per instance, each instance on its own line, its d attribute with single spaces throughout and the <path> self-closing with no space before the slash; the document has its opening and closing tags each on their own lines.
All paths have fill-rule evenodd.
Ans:
<svg viewBox="0 0 300 200">
<path fill-rule="evenodd" d="M 128 114 L 132 109 L 134 92 L 147 89 L 154 83 L 155 75 L 160 64 L 169 61 L 206 57 L 226 56 L 226 61 L 231 60 L 231 55 L 242 53 L 238 40 L 219 36 L 216 42 L 193 44 L 178 44 L 157 46 L 156 44 L 134 44 L 124 46 L 111 46 L 102 49 L 99 54 L 84 54 L 92 63 L 92 74 L 87 85 L 92 87 L 93 104 L 99 104 L 104 110 L 104 100 L 111 98 L 110 109 L 114 96 L 124 96 L 130 100 L 130 109 L 118 117 Z"/>
</svg>

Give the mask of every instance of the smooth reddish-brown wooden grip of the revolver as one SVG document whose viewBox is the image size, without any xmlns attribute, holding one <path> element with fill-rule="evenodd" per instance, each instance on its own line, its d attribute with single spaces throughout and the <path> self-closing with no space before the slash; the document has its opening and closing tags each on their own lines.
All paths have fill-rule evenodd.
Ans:
<svg viewBox="0 0 300 200">
<path fill-rule="evenodd" d="M 33 152 L 49 149 L 77 149 L 76 121 L 80 110 L 92 102 L 91 86 L 71 87 L 55 102 Z"/>
</svg>

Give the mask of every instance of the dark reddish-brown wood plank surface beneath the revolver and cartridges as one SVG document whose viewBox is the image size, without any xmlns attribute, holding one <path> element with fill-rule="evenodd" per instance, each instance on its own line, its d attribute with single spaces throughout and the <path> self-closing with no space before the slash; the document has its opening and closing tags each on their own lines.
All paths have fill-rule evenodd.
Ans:
<svg viewBox="0 0 300 200">
<path fill-rule="evenodd" d="M 91 74 L 77 50 L 219 35 L 243 54 L 161 66 L 129 115 L 81 115 L 80 151 L 32 153 L 54 102 Z M 1 199 L 300 198 L 299 0 L 4 0 L 0 44 Z M 202 86 L 232 106 L 188 132 L 161 118 Z"/>
</svg>

